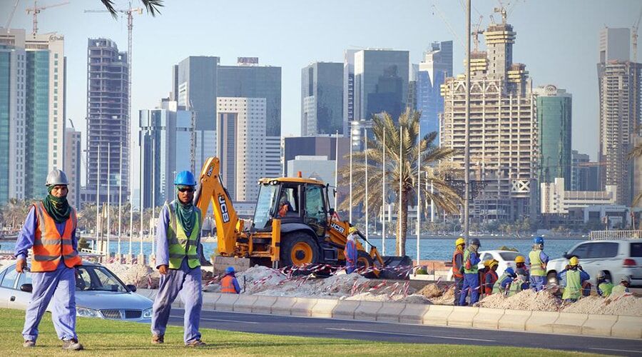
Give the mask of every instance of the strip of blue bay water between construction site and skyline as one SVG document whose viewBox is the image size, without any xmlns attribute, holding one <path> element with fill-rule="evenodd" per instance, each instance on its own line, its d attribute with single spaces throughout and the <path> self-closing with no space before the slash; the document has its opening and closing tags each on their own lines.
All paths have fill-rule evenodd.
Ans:
<svg viewBox="0 0 642 357">
<path fill-rule="evenodd" d="M 561 258 L 564 252 L 569 251 L 576 243 L 584 241 L 578 238 L 547 238 L 544 246 L 544 252 L 549 254 L 551 258 Z M 381 238 L 370 238 L 370 243 L 377 246 L 379 253 L 383 253 Z M 501 246 L 509 248 L 516 248 L 521 253 L 528 253 L 531 250 L 532 238 L 482 238 L 481 251 L 499 249 Z M 385 254 L 388 256 L 394 255 L 394 237 L 386 238 Z M 0 250 L 13 251 L 16 246 L 14 241 L 1 241 Z M 215 242 L 203 243 L 203 253 L 205 256 L 210 256 L 216 249 Z M 148 255 L 151 253 L 152 244 L 149 241 L 143 242 L 143 253 Z M 452 258 L 452 251 L 454 249 L 453 238 L 421 238 L 419 240 L 419 254 L 422 260 L 438 260 L 449 261 Z M 109 250 L 113 253 L 118 251 L 118 244 L 116 241 L 111 241 Z M 131 252 L 138 254 L 141 251 L 140 242 L 132 242 Z M 121 253 L 129 253 L 128 238 L 123 238 L 121 241 Z M 417 257 L 417 237 L 408 237 L 406 242 L 407 255 L 415 259 Z"/>
</svg>

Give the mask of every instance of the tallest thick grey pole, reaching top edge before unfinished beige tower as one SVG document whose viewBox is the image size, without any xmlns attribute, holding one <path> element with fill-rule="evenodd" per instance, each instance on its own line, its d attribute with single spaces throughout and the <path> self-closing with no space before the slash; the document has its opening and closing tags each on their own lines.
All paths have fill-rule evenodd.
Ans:
<svg viewBox="0 0 642 357">
<path fill-rule="evenodd" d="M 469 240 L 470 223 L 470 1 L 466 0 L 466 124 L 464 141 L 464 182 L 466 185 L 464 198 L 464 238 Z"/>
</svg>

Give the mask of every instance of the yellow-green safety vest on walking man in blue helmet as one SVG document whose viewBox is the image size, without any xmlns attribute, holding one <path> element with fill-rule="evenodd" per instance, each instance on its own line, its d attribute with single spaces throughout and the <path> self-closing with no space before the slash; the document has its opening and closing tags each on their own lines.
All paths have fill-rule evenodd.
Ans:
<svg viewBox="0 0 642 357">
<path fill-rule="evenodd" d="M 200 211 L 194 207 L 194 214 L 196 215 L 195 226 L 190 232 L 188 237 L 185 234 L 183 225 L 176 219 L 175 205 L 176 201 L 170 202 L 168 206 L 170 223 L 167 227 L 167 243 L 169 248 L 169 268 L 178 269 L 180 263 L 183 263 L 183 258 L 188 259 L 188 266 L 196 268 L 200 266 L 200 259 L 196 252 L 198 246 L 198 233 L 200 232 Z"/>
</svg>

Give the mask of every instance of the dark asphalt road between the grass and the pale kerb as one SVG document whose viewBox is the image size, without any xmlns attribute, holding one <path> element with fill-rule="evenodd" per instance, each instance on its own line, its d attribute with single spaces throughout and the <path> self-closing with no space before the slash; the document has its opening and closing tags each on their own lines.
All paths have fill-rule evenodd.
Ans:
<svg viewBox="0 0 642 357">
<path fill-rule="evenodd" d="M 183 326 L 183 310 L 172 309 L 170 324 Z M 642 355 L 642 341 L 640 340 L 555 336 L 543 333 L 490 331 L 476 328 L 435 327 L 403 323 L 344 321 L 330 318 L 304 318 L 261 315 L 257 313 L 203 311 L 200 326 L 229 331 L 270 333 L 285 336 L 352 338 L 404 343 L 519 346 L 622 356 Z"/>
</svg>

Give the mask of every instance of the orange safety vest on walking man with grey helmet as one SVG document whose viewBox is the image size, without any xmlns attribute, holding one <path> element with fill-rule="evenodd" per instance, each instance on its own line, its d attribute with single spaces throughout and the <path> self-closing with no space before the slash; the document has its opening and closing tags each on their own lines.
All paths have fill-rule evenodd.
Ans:
<svg viewBox="0 0 642 357">
<path fill-rule="evenodd" d="M 76 230 L 76 210 L 71 208 L 69 218 L 65 222 L 62 235 L 56 228 L 56 221 L 49 216 L 42 202 L 34 203 L 36 209 L 36 236 L 34 237 L 34 259 L 31 261 L 31 271 L 55 271 L 62 258 L 67 268 L 82 264 L 78 251 L 71 245 L 71 233 Z"/>
</svg>

